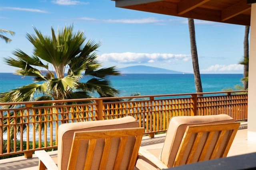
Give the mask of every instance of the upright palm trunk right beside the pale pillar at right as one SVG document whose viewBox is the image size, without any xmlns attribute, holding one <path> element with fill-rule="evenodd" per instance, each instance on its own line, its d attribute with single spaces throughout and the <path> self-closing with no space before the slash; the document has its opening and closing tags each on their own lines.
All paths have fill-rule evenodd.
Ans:
<svg viewBox="0 0 256 170">
<path fill-rule="evenodd" d="M 246 25 L 244 30 L 244 58 L 249 58 L 249 31 L 250 26 Z M 244 78 L 248 77 L 249 65 L 244 64 Z M 244 81 L 244 90 L 248 89 L 248 81 Z"/>
</svg>

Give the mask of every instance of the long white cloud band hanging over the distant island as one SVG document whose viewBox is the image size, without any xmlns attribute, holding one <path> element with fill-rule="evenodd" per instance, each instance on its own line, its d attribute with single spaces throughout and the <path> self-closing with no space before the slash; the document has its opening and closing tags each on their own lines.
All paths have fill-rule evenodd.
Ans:
<svg viewBox="0 0 256 170">
<path fill-rule="evenodd" d="M 136 63 L 174 63 L 176 61 L 188 61 L 190 55 L 174 55 L 167 53 L 108 53 L 102 54 L 98 57 L 100 62 L 115 62 L 122 64 L 136 64 Z"/>
</svg>

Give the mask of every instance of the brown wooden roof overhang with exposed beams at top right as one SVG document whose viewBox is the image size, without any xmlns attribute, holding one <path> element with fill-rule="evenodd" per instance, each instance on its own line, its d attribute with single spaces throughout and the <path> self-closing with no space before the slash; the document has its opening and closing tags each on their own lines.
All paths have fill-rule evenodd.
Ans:
<svg viewBox="0 0 256 170">
<path fill-rule="evenodd" d="M 114 0 L 116 7 L 198 20 L 250 25 L 250 0 Z M 248 2 L 247 2 L 248 1 Z"/>
</svg>

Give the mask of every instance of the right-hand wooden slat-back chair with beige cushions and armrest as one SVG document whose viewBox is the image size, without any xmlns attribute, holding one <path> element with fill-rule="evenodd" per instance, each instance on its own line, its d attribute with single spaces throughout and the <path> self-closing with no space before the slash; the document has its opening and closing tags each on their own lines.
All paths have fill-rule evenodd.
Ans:
<svg viewBox="0 0 256 170">
<path fill-rule="evenodd" d="M 239 126 L 228 115 L 173 117 L 159 159 L 140 147 L 136 167 L 164 169 L 226 157 Z"/>
</svg>

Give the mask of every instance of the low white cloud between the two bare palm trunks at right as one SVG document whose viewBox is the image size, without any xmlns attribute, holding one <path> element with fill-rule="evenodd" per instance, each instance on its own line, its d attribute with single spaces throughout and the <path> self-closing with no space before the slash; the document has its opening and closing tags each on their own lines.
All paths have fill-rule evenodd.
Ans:
<svg viewBox="0 0 256 170">
<path fill-rule="evenodd" d="M 244 66 L 241 65 L 241 64 L 230 64 L 230 65 L 220 65 L 220 64 L 216 64 L 216 65 L 213 65 L 213 66 L 210 66 L 202 71 L 205 71 L 205 72 L 225 72 L 225 71 L 240 71 L 240 70 L 243 70 L 244 69 Z"/>
</svg>

